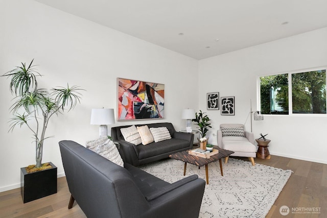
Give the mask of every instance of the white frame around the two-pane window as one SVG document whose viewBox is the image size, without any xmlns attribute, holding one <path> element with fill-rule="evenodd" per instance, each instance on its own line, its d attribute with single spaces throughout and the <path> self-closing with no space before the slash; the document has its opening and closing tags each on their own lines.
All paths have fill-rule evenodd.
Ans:
<svg viewBox="0 0 327 218">
<path fill-rule="evenodd" d="M 292 99 L 292 74 L 299 74 L 301 72 L 309 72 L 309 71 L 316 71 L 316 70 L 325 70 L 326 74 L 326 89 L 327 89 L 327 65 L 326 66 L 319 66 L 319 67 L 312 67 L 312 68 L 305 68 L 305 69 L 297 69 L 293 71 L 285 71 L 285 72 L 278 72 L 276 74 L 266 74 L 262 76 L 258 76 L 256 80 L 257 88 L 256 88 L 256 101 L 258 107 L 257 110 L 261 111 L 261 94 L 260 94 L 260 78 L 261 77 L 267 77 L 267 76 L 275 76 L 275 75 L 280 75 L 280 74 L 288 74 L 288 114 L 263 114 L 265 116 L 327 116 L 326 113 L 293 113 L 293 99 Z M 326 91 L 326 107 L 327 107 L 327 91 Z"/>
</svg>

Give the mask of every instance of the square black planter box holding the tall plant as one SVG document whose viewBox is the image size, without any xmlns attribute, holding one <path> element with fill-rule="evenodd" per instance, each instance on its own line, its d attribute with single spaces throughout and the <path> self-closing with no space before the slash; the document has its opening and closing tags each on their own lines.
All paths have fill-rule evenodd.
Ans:
<svg viewBox="0 0 327 218">
<path fill-rule="evenodd" d="M 27 173 L 26 168 L 20 168 L 20 191 L 24 203 L 34 201 L 57 193 L 57 167 L 43 171 Z"/>
</svg>

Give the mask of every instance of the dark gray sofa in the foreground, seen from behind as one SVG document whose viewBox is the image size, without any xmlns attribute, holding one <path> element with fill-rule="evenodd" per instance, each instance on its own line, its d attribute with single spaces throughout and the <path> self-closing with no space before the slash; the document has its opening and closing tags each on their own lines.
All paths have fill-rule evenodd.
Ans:
<svg viewBox="0 0 327 218">
<path fill-rule="evenodd" d="M 71 200 L 87 217 L 198 217 L 205 181 L 165 182 L 128 163 L 119 166 L 74 141 L 59 142 Z"/>
</svg>

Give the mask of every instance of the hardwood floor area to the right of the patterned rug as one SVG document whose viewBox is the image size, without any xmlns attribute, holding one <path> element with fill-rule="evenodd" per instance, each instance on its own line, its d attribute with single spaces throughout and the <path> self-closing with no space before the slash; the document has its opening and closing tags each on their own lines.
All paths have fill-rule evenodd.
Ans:
<svg viewBox="0 0 327 218">
<path fill-rule="evenodd" d="M 239 159 L 248 161 L 247 158 Z M 266 217 L 327 217 L 327 164 L 273 155 L 268 160 L 255 158 L 255 163 L 293 172 Z M 288 215 L 279 212 L 282 206 L 289 207 Z M 299 213 L 312 208 L 320 213 Z"/>
</svg>

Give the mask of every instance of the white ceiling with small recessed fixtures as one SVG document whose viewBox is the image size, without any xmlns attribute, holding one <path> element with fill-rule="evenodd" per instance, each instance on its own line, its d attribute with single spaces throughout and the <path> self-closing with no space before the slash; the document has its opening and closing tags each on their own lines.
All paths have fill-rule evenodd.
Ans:
<svg viewBox="0 0 327 218">
<path fill-rule="evenodd" d="M 327 27 L 327 0 L 35 1 L 198 60 Z"/>
</svg>

